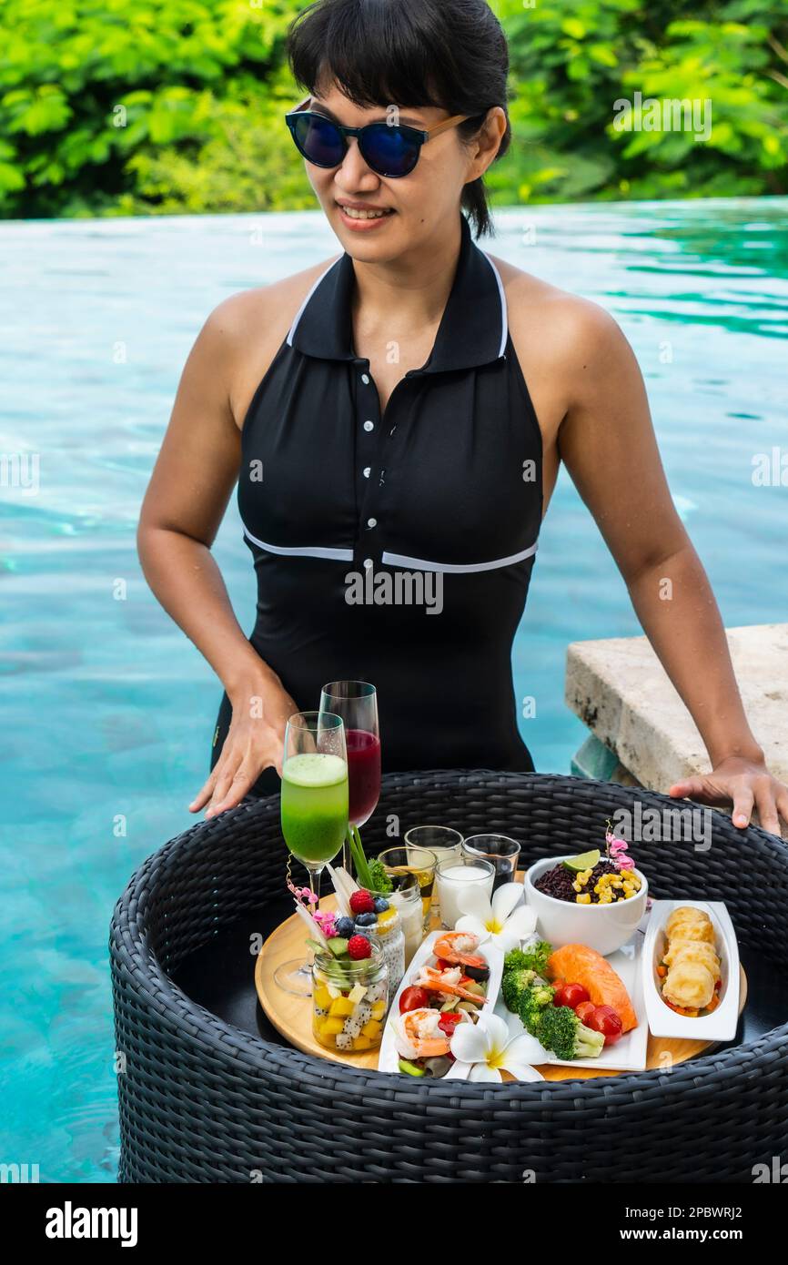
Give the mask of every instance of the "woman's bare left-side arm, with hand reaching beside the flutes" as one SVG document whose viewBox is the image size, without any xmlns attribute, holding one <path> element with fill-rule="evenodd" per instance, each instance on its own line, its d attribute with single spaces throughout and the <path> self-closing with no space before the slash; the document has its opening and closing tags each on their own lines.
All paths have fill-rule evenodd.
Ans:
<svg viewBox="0 0 788 1265">
<path fill-rule="evenodd" d="M 243 302 L 237 296 L 221 304 L 190 353 L 138 531 L 145 579 L 205 655 L 233 706 L 221 755 L 190 805 L 192 812 L 207 805 L 207 817 L 239 803 L 264 768 L 281 773 L 285 722 L 297 711 L 244 636 L 211 555 L 240 462 L 230 383 Z"/>
</svg>

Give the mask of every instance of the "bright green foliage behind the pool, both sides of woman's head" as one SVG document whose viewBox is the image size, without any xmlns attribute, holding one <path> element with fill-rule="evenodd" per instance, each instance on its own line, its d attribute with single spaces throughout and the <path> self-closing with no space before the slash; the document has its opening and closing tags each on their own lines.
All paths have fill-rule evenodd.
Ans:
<svg viewBox="0 0 788 1265">
<path fill-rule="evenodd" d="M 314 206 L 282 121 L 301 8 L 4 0 L 0 215 Z M 492 8 L 510 39 L 515 135 L 488 177 L 498 204 L 788 190 L 788 0 Z M 635 92 L 711 100 L 711 135 L 617 130 L 615 102 Z"/>
</svg>

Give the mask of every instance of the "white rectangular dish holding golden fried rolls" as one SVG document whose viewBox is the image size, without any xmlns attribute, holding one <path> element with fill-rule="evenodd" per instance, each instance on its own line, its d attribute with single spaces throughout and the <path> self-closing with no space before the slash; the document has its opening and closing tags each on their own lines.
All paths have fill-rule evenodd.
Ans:
<svg viewBox="0 0 788 1265">
<path fill-rule="evenodd" d="M 712 921 L 720 955 L 722 983 L 720 1004 L 711 1015 L 693 1018 L 677 1015 L 662 999 L 656 968 L 665 950 L 665 922 L 680 906 L 702 910 Z M 654 901 L 641 956 L 643 996 L 646 1017 L 654 1036 L 697 1041 L 732 1041 L 739 1025 L 739 945 L 727 907 L 722 901 Z"/>
</svg>

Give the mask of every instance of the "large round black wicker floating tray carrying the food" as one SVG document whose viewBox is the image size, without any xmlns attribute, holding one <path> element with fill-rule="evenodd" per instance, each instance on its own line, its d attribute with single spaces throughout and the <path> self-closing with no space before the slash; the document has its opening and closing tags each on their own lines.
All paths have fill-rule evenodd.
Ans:
<svg viewBox="0 0 788 1265">
<path fill-rule="evenodd" d="M 441 821 L 522 842 L 522 860 L 597 845 L 639 798 L 607 783 L 521 773 L 383 779 L 364 844 Z M 725 899 L 745 966 L 785 970 L 788 850 L 715 813 L 712 846 L 639 844 L 655 897 Z M 201 822 L 149 858 L 110 935 L 121 1182 L 745 1182 L 788 1141 L 788 1007 L 739 1045 L 675 1066 L 553 1084 L 414 1084 L 314 1059 L 273 1040 L 254 1007 L 257 935 L 287 908 L 278 798 Z M 214 963 L 199 989 L 195 964 Z M 243 963 L 243 966 L 240 965 Z M 224 964 L 224 966 L 223 966 Z M 248 970 L 250 994 L 228 985 Z M 205 983 L 205 977 L 204 977 Z M 191 992 L 194 996 L 188 996 Z M 214 1001 L 211 997 L 214 996 Z M 777 1004 L 779 1003 L 779 1006 Z M 210 1006 L 223 1013 L 212 1013 Z M 775 1013 L 782 1011 L 782 1013 Z M 745 1012 L 746 1020 L 748 1012 Z"/>
</svg>

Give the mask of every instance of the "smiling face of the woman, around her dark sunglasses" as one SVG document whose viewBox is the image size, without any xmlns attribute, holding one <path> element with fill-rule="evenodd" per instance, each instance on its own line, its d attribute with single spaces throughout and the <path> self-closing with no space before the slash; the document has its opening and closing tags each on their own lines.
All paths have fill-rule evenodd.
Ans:
<svg viewBox="0 0 788 1265">
<path fill-rule="evenodd" d="M 335 123 L 363 128 L 387 121 L 386 109 L 362 109 L 335 86 L 311 97 L 311 109 Z M 397 121 L 429 130 L 449 118 L 438 106 L 409 106 Z M 409 176 L 390 180 L 378 176 L 349 138 L 340 167 L 328 170 L 306 163 L 306 173 L 340 243 L 354 259 L 386 262 L 421 244 L 434 242 L 457 218 L 462 190 L 481 176 L 498 149 L 506 129 L 503 110 L 489 110 L 484 128 L 471 144 L 463 144 L 455 128 L 421 147 Z M 353 210 L 385 211 L 379 219 L 353 218 Z"/>
</svg>

